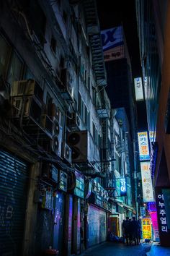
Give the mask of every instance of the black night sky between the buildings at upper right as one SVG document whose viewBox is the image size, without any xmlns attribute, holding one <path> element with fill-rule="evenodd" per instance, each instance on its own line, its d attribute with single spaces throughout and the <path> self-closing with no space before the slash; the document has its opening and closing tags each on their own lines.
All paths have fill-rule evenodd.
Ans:
<svg viewBox="0 0 170 256">
<path fill-rule="evenodd" d="M 97 1 L 101 30 L 123 26 L 134 77 L 141 76 L 135 0 Z M 146 103 L 137 103 L 138 130 L 146 130 Z"/>
</svg>

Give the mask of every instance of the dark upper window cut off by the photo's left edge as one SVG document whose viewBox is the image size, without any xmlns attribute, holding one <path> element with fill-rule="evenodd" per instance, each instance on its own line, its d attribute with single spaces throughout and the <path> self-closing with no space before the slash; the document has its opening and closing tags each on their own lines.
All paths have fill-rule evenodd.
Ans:
<svg viewBox="0 0 170 256">
<path fill-rule="evenodd" d="M 0 76 L 6 77 L 6 70 L 9 64 L 11 47 L 6 40 L 0 35 Z"/>
</svg>

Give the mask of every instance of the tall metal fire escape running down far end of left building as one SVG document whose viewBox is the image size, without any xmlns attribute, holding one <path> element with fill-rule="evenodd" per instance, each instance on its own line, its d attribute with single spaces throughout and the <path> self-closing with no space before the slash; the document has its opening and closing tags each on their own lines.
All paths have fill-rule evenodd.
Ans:
<svg viewBox="0 0 170 256">
<path fill-rule="evenodd" d="M 86 17 L 87 33 L 89 35 L 89 43 L 92 55 L 92 67 L 94 69 L 95 80 L 97 84 L 97 115 L 101 119 L 103 139 L 102 139 L 102 173 L 107 178 L 108 153 L 107 141 L 108 136 L 105 131 L 105 121 L 110 115 L 110 103 L 105 87 L 107 85 L 107 75 L 104 66 L 104 57 L 102 51 L 102 40 L 99 28 L 99 20 L 97 16 L 97 4 L 94 0 L 84 1 L 84 10 Z"/>
</svg>

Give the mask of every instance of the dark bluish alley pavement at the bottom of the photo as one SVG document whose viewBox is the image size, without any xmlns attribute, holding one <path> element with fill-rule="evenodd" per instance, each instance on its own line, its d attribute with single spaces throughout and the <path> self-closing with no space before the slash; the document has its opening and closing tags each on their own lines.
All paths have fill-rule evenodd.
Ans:
<svg viewBox="0 0 170 256">
<path fill-rule="evenodd" d="M 87 249 L 81 256 L 146 256 L 151 244 L 130 245 L 115 242 L 104 242 Z"/>
</svg>

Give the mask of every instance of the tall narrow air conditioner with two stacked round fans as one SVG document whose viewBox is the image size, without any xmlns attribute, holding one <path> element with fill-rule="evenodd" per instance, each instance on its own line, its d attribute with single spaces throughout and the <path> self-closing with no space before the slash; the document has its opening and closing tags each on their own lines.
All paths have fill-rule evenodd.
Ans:
<svg viewBox="0 0 170 256">
<path fill-rule="evenodd" d="M 53 121 L 53 138 L 51 148 L 53 153 L 61 157 L 61 144 L 63 139 L 63 127 L 59 124 L 57 119 Z"/>
</svg>

